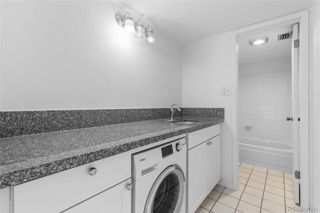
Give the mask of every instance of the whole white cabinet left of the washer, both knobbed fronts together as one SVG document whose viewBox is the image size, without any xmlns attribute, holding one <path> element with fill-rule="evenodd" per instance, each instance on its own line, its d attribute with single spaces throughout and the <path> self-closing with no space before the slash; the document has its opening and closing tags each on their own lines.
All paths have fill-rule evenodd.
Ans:
<svg viewBox="0 0 320 213">
<path fill-rule="evenodd" d="M 124 152 L 15 185 L 11 212 L 130 212 L 130 162 Z"/>
</svg>

